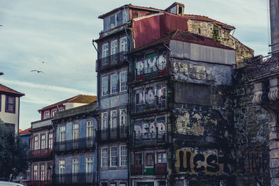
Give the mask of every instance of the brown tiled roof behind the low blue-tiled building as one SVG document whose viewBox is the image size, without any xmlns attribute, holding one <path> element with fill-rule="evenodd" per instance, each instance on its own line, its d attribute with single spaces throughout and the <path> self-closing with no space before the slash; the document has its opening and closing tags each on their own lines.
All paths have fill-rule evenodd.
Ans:
<svg viewBox="0 0 279 186">
<path fill-rule="evenodd" d="M 51 109 L 53 107 L 57 107 L 61 104 L 64 104 L 66 102 L 77 102 L 77 103 L 86 103 L 89 104 L 91 102 L 95 102 L 97 100 L 97 96 L 96 95 L 76 95 L 73 98 L 69 98 L 67 100 L 63 100 L 61 102 L 56 102 L 54 104 L 51 104 L 47 107 L 43 107 L 43 109 L 39 109 L 38 111 L 43 111 L 45 109 Z"/>
</svg>

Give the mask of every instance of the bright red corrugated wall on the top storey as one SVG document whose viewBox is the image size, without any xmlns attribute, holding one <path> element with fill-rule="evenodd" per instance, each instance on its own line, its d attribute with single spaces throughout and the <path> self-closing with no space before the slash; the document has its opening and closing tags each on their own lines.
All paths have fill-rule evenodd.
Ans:
<svg viewBox="0 0 279 186">
<path fill-rule="evenodd" d="M 185 17 L 164 14 L 133 21 L 135 47 L 146 45 L 176 30 L 188 31 Z"/>
</svg>

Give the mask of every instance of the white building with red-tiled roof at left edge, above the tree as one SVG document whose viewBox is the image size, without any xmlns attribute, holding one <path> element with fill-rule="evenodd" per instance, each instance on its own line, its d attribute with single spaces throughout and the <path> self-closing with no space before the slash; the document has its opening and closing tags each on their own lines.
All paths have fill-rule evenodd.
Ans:
<svg viewBox="0 0 279 186">
<path fill-rule="evenodd" d="M 0 84 L 0 119 L 4 125 L 12 127 L 15 134 L 20 128 L 20 97 L 23 95 Z"/>
</svg>

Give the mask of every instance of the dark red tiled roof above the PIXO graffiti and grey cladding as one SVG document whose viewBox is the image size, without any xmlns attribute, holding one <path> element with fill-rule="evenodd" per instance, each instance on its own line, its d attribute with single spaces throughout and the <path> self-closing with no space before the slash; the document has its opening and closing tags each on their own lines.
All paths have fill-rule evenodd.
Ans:
<svg viewBox="0 0 279 186">
<path fill-rule="evenodd" d="M 158 45 L 160 43 L 164 43 L 167 42 L 169 40 L 180 40 L 183 42 L 190 42 L 190 43 L 195 43 L 198 45 L 205 45 L 205 46 L 209 46 L 209 47 L 218 47 L 218 48 L 222 48 L 222 49 L 230 49 L 230 50 L 234 50 L 230 47 L 227 47 L 225 45 L 221 45 L 220 43 L 216 42 L 215 40 L 213 40 L 212 38 L 206 38 L 204 36 L 199 36 L 195 33 L 190 33 L 188 31 L 173 31 L 172 33 L 167 34 L 166 36 L 163 36 L 161 38 L 159 38 L 158 40 L 153 40 L 152 42 L 149 42 L 146 45 L 143 45 L 141 47 L 138 47 L 137 49 L 135 49 L 133 52 L 130 53 L 134 53 L 137 52 L 141 49 L 146 49 L 148 47 L 152 47 L 154 45 Z"/>
</svg>

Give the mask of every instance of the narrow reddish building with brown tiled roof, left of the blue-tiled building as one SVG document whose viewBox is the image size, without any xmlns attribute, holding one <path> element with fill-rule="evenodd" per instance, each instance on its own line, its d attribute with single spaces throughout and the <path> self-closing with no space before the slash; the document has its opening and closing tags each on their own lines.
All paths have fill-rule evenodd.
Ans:
<svg viewBox="0 0 279 186">
<path fill-rule="evenodd" d="M 53 144 L 55 140 L 52 118 L 56 111 L 89 104 L 95 100 L 96 96 L 77 95 L 38 110 L 41 120 L 31 123 L 31 149 L 29 150 L 31 169 L 30 180 L 27 182 L 27 185 L 52 184 L 52 174 L 54 174 Z"/>
</svg>

